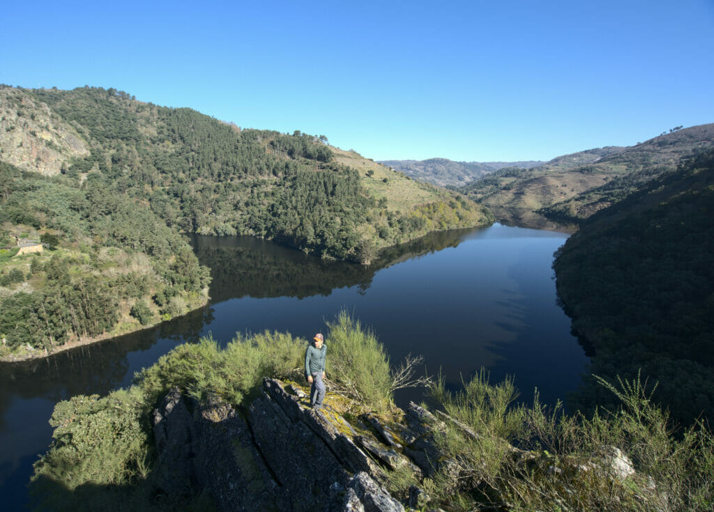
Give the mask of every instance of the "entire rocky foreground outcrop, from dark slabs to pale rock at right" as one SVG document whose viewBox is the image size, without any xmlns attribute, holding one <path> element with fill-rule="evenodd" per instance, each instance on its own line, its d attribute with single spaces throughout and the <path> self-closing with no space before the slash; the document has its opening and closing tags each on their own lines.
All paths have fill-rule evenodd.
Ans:
<svg viewBox="0 0 714 512">
<path fill-rule="evenodd" d="M 437 447 L 436 436 L 454 427 L 466 438 L 481 439 L 470 426 L 413 403 L 390 423 L 373 414 L 348 421 L 338 407 L 328 401 L 315 411 L 299 386 L 276 379 L 264 379 L 241 411 L 220 399 L 198 401 L 171 389 L 154 411 L 159 486 L 177 502 L 208 491 L 218 511 L 401 512 L 403 503 L 385 488 L 388 471 L 411 471 L 416 481 L 439 471 L 446 486 L 441 493 L 479 493 L 491 503 L 475 509 L 480 512 L 509 509 L 483 481 L 483 469 L 473 466 L 478 463 L 446 456 Z M 641 499 L 655 510 L 666 508 L 667 496 L 651 478 L 635 474 L 614 446 L 602 446 L 582 461 L 516 449 L 505 440 L 489 442 L 502 444 L 503 456 L 524 475 L 555 476 L 566 489 L 588 471 L 612 481 L 638 478 Z M 434 504 L 415 485 L 399 498 L 410 509 L 430 510 Z"/>
</svg>

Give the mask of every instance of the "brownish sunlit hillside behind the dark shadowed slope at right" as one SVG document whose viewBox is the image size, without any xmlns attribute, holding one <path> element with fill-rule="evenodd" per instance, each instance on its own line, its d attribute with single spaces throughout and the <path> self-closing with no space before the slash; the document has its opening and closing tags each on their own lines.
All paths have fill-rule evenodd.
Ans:
<svg viewBox="0 0 714 512">
<path fill-rule="evenodd" d="M 461 192 L 489 208 L 537 211 L 550 220 L 578 223 L 616 203 L 714 140 L 714 124 L 676 127 L 628 148 L 564 155 L 537 168 L 506 168 L 464 185 Z"/>
</svg>

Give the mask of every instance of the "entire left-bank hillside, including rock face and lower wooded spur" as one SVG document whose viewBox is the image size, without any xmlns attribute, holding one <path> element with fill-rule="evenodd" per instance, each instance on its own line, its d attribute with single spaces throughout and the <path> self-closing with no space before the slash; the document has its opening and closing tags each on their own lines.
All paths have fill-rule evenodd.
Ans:
<svg viewBox="0 0 714 512">
<path fill-rule="evenodd" d="M 0 86 L 0 114 L 5 349 L 51 350 L 206 302 L 208 270 L 180 233 L 256 235 L 368 263 L 383 247 L 493 218 L 323 135 L 241 130 L 111 88 Z M 46 250 L 12 257 L 20 241 Z"/>
</svg>

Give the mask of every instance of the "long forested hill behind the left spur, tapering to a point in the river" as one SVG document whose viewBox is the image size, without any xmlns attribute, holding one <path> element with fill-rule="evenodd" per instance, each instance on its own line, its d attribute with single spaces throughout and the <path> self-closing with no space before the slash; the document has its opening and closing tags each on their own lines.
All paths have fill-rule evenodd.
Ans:
<svg viewBox="0 0 714 512">
<path fill-rule="evenodd" d="M 241 130 L 113 89 L 11 92 L 49 109 L 84 140 L 91 154 L 66 155 L 67 176 L 99 173 L 183 232 L 276 238 L 324 257 L 367 262 L 381 247 L 432 230 L 489 222 L 456 193 L 386 169 L 360 173 L 373 163 L 347 158 L 325 138 Z M 16 145 L 2 158 L 37 170 Z"/>
</svg>

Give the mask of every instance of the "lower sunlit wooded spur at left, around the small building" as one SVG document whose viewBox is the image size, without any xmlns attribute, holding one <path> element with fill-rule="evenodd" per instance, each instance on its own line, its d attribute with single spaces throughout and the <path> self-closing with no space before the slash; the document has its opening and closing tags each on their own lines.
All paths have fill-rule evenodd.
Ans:
<svg viewBox="0 0 714 512">
<path fill-rule="evenodd" d="M 43 231 L 49 247 L 3 262 L 6 348 L 51 351 L 118 334 L 122 308 L 146 325 L 206 302 L 208 269 L 187 241 L 100 175 L 76 188 L 64 175 L 46 178 L 0 162 L 0 183 L 4 242 L 21 227 L 26 235 Z"/>
</svg>

